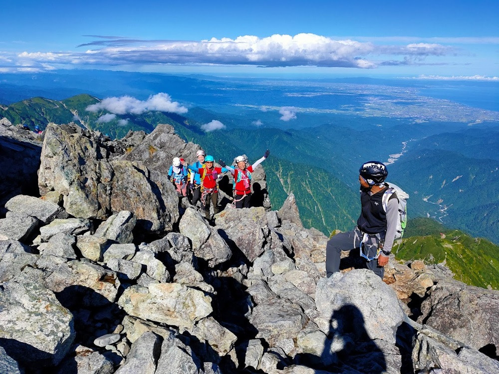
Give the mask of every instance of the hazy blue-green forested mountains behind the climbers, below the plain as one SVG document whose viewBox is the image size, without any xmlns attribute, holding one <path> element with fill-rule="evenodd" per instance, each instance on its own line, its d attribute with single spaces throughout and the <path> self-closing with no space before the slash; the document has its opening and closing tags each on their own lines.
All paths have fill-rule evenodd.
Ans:
<svg viewBox="0 0 499 374">
<path fill-rule="evenodd" d="M 499 168 L 497 126 L 471 128 L 464 123 L 339 114 L 313 128 L 282 130 L 251 126 L 255 117 L 248 114 L 221 114 L 200 107 L 190 108 L 185 115 L 146 111 L 102 121 L 109 112 L 86 110 L 99 101 L 84 94 L 61 101 L 37 97 L 1 106 L 0 117 L 42 129 L 49 122 L 75 122 L 112 138 L 123 137 L 129 130 L 149 133 L 158 123 L 169 123 L 185 140 L 226 162 L 239 154 L 247 154 L 251 162 L 268 148 L 271 156 L 263 166 L 274 208 L 292 191 L 304 224 L 324 233 L 355 224 L 360 208 L 359 166 L 372 159 L 392 159 L 388 180 L 411 195 L 410 217 L 434 217 L 448 227 L 499 243 L 499 186 L 494 183 Z M 202 125 L 214 119 L 226 129 L 205 132 Z"/>
</svg>

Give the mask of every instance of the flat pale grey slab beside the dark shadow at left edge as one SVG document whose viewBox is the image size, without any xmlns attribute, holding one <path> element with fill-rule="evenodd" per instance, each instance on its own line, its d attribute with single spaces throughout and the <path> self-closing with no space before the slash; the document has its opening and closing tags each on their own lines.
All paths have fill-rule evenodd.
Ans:
<svg viewBox="0 0 499 374">
<path fill-rule="evenodd" d="M 5 207 L 16 213 L 34 217 L 44 224 L 56 218 L 67 218 L 67 212 L 53 202 L 28 195 L 17 195 L 5 203 Z"/>
</svg>

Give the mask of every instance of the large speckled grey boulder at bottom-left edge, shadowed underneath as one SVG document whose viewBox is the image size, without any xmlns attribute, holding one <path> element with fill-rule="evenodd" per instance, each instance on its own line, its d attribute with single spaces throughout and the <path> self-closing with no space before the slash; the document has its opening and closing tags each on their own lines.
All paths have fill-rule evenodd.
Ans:
<svg viewBox="0 0 499 374">
<path fill-rule="evenodd" d="M 73 315 L 26 268 L 0 288 L 0 346 L 19 363 L 57 365 L 75 338 Z"/>
</svg>

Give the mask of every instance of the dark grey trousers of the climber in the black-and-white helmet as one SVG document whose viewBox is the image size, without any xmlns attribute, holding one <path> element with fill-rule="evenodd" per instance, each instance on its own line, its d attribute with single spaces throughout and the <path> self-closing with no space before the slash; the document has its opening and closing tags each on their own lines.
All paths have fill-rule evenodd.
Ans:
<svg viewBox="0 0 499 374">
<path fill-rule="evenodd" d="M 357 232 L 357 236 L 355 233 Z M 355 238 L 355 243 L 354 243 Z M 340 271 L 340 256 L 341 251 L 351 251 L 352 249 L 358 248 L 360 241 L 362 240 L 362 233 L 356 227 L 353 230 L 347 232 L 340 232 L 334 235 L 326 245 L 326 275 L 330 277 L 333 273 Z M 376 247 L 372 247 L 369 250 L 368 256 L 374 257 L 376 255 Z M 383 279 L 385 274 L 385 268 L 378 266 L 378 260 L 367 261 L 366 267 L 369 270 L 374 271 L 376 275 Z"/>
</svg>

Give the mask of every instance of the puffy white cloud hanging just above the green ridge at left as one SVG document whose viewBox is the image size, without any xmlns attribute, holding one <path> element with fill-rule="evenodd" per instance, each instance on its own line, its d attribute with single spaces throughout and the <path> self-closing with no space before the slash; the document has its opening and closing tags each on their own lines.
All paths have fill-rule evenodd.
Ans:
<svg viewBox="0 0 499 374">
<path fill-rule="evenodd" d="M 149 96 L 145 101 L 131 96 L 108 97 L 96 104 L 89 105 L 86 110 L 89 112 L 107 110 L 114 114 L 141 114 L 148 110 L 177 114 L 187 113 L 186 107 L 176 101 L 172 102 L 170 95 L 163 92 Z"/>
</svg>

